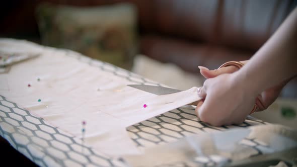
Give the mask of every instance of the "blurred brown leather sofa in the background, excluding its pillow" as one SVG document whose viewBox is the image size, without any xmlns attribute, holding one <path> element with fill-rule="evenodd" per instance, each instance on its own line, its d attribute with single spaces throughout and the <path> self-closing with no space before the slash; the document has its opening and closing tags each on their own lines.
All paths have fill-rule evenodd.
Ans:
<svg viewBox="0 0 297 167">
<path fill-rule="evenodd" d="M 198 65 L 214 69 L 226 61 L 249 59 L 297 4 L 296 0 L 14 0 L 2 11 L 6 26 L 0 30 L 38 35 L 34 10 L 41 2 L 80 7 L 132 3 L 138 11 L 140 52 L 196 74 Z M 281 96 L 297 97 L 296 78 Z"/>
</svg>

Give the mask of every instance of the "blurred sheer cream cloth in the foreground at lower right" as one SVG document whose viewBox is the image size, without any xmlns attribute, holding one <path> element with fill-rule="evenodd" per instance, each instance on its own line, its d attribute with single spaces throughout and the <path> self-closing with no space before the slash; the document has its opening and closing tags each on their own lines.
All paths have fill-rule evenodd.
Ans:
<svg viewBox="0 0 297 167">
<path fill-rule="evenodd" d="M 176 142 L 145 148 L 142 154 L 127 155 L 131 166 L 225 166 L 249 162 L 255 152 L 265 154 L 297 149 L 297 130 L 282 125 L 258 125 L 248 129 L 204 133 Z M 251 143 L 253 147 L 248 147 Z M 286 157 L 277 157 L 286 160 Z M 262 159 L 264 160 L 264 159 Z M 250 160 L 250 162 L 253 162 Z"/>
</svg>

